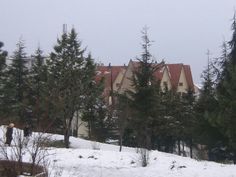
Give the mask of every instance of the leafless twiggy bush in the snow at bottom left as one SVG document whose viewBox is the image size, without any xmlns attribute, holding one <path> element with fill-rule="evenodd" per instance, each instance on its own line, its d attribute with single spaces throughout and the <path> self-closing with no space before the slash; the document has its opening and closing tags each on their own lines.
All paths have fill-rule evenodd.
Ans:
<svg viewBox="0 0 236 177">
<path fill-rule="evenodd" d="M 48 156 L 46 142 L 49 136 L 44 133 L 34 133 L 31 137 L 24 137 L 23 131 L 14 128 L 12 145 L 5 145 L 4 138 L 0 142 L 1 159 L 17 162 L 17 171 L 23 174 L 23 164 L 30 162 L 27 172 L 30 175 L 36 173 L 38 166 L 42 166 L 44 175 L 47 173 Z"/>
</svg>

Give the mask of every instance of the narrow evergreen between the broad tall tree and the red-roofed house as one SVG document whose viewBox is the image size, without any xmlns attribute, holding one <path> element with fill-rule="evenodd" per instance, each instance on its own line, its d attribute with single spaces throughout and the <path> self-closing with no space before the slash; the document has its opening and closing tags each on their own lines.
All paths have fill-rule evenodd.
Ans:
<svg viewBox="0 0 236 177">
<path fill-rule="evenodd" d="M 104 98 L 104 81 L 95 81 L 96 65 L 91 55 L 86 58 L 84 69 L 84 101 L 82 120 L 87 122 L 90 140 L 105 142 L 108 135 L 107 115 Z"/>
</svg>

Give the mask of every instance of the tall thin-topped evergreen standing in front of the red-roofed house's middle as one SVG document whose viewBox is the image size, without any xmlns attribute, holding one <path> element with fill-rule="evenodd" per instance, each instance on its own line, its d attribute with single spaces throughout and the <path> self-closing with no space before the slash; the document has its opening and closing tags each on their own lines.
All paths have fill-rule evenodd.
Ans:
<svg viewBox="0 0 236 177">
<path fill-rule="evenodd" d="M 148 38 L 147 28 L 142 31 L 143 53 L 138 59 L 138 67 L 133 71 L 133 88 L 129 91 L 131 97 L 132 126 L 135 132 L 138 146 L 151 149 L 152 134 L 158 122 L 158 103 L 160 83 L 156 80 L 154 73 L 159 65 L 154 63 L 149 52 L 151 41 Z"/>
</svg>

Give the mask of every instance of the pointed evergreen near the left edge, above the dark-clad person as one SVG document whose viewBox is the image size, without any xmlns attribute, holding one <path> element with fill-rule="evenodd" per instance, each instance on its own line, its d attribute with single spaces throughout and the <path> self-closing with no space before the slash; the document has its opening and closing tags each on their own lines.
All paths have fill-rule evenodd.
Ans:
<svg viewBox="0 0 236 177">
<path fill-rule="evenodd" d="M 25 123 L 26 121 L 26 92 L 28 88 L 25 46 L 22 40 L 17 43 L 17 49 L 12 56 L 12 63 L 8 68 L 8 79 L 5 85 L 5 100 L 7 100 L 11 119 Z"/>
</svg>

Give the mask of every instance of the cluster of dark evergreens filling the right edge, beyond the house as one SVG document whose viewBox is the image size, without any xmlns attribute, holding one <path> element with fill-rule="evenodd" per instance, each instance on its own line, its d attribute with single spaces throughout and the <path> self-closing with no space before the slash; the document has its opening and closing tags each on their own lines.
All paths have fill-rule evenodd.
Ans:
<svg viewBox="0 0 236 177">
<path fill-rule="evenodd" d="M 208 63 L 203 72 L 203 88 L 196 105 L 195 141 L 207 145 L 210 160 L 236 162 L 236 21 L 232 40 L 222 45 L 222 55 Z M 230 51 L 228 53 L 228 50 Z M 224 149 L 224 151 L 222 151 Z"/>
</svg>

